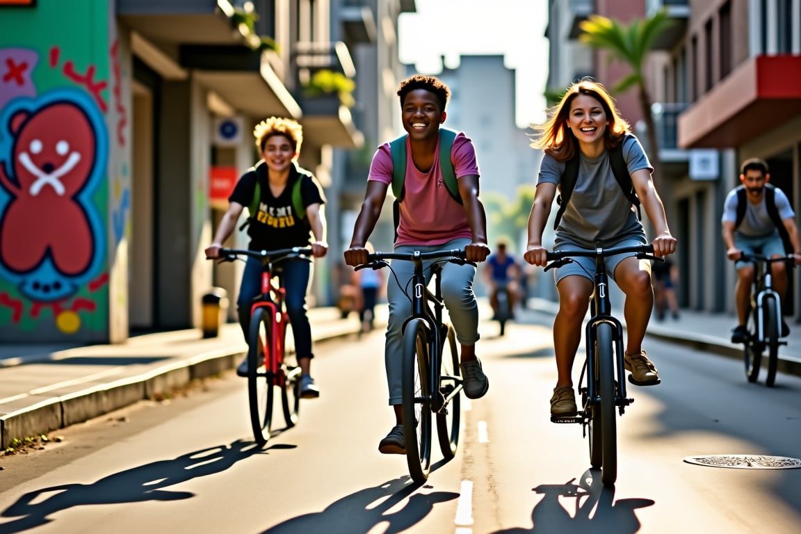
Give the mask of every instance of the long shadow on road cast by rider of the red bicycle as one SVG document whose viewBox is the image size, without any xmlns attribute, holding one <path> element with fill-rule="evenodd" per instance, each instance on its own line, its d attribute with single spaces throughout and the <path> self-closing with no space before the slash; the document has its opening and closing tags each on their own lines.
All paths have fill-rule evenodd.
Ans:
<svg viewBox="0 0 801 534">
<path fill-rule="evenodd" d="M 189 499 L 193 493 L 173 492 L 167 488 L 199 476 L 223 472 L 240 460 L 265 454 L 268 450 L 250 441 L 236 440 L 230 445 L 127 469 L 93 484 L 63 484 L 28 492 L 0 513 L 2 517 L 18 517 L 10 523 L 0 524 L 0 534 L 48 524 L 54 521 L 51 515 L 75 506 Z"/>
</svg>

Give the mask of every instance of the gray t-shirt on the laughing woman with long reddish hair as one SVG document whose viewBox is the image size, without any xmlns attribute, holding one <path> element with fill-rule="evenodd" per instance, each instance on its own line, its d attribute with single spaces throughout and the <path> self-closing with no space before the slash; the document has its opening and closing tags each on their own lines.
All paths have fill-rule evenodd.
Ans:
<svg viewBox="0 0 801 534">
<path fill-rule="evenodd" d="M 626 137 L 622 151 L 629 174 L 640 169 L 654 170 L 642 145 L 633 135 Z M 537 183 L 554 183 L 558 186 L 565 165 L 565 162 L 557 162 L 545 154 Z M 614 178 L 607 151 L 598 158 L 581 155 L 576 185 L 556 233 L 557 237 L 572 239 L 588 248 L 594 248 L 598 242 L 609 247 L 610 243 L 621 239 L 645 239 L 645 230 L 637 219 L 634 206 Z"/>
</svg>

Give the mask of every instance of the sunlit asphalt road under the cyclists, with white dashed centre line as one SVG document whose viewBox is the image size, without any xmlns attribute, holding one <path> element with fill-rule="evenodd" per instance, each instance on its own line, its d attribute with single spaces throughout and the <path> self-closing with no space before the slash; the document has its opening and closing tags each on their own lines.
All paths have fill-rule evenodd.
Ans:
<svg viewBox="0 0 801 534">
<path fill-rule="evenodd" d="M 648 340 L 663 383 L 630 387 L 618 483 L 602 490 L 582 428 L 549 422 L 549 327 L 481 329 L 489 393 L 464 403 L 457 456 L 444 464 L 435 449 L 427 484 L 409 482 L 405 457 L 376 450 L 392 426 L 376 331 L 320 344 L 320 399 L 264 449 L 244 380 L 228 374 L 0 459 L 0 533 L 798 532 L 801 469 L 684 461 L 801 456 L 798 377 L 767 388 L 734 359 Z"/>
</svg>

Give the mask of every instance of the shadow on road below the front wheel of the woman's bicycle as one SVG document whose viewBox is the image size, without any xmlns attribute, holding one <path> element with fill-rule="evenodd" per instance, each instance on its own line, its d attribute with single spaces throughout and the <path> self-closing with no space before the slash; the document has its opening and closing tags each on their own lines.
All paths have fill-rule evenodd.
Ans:
<svg viewBox="0 0 801 534">
<path fill-rule="evenodd" d="M 541 484 L 534 492 L 544 495 L 531 512 L 531 528 L 506 528 L 493 534 L 524 534 L 525 532 L 639 532 L 642 525 L 634 512 L 653 506 L 650 499 L 614 500 L 614 488 L 604 488 L 601 472 L 590 469 L 579 484 L 572 479 L 566 484 Z M 572 508 L 568 510 L 559 498 Z M 570 499 L 575 503 L 570 505 Z"/>
</svg>

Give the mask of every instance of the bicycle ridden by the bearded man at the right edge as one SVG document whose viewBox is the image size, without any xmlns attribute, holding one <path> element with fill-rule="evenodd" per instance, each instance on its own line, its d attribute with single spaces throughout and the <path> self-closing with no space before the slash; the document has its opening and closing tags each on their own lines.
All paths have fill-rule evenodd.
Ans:
<svg viewBox="0 0 801 534">
<path fill-rule="evenodd" d="M 795 267 L 795 263 L 792 255 L 767 258 L 743 252 L 739 259 L 753 263 L 755 271 L 751 289 L 751 308 L 746 314 L 746 328 L 749 335 L 743 342 L 746 376 L 749 382 L 756 382 L 759 377 L 759 367 L 762 365 L 763 352 L 767 348 L 765 385 L 773 387 L 779 363 L 779 345 L 787 345 L 787 341 L 779 339 L 782 330 L 782 302 L 779 294 L 773 289 L 772 265 L 785 262 Z"/>
</svg>

